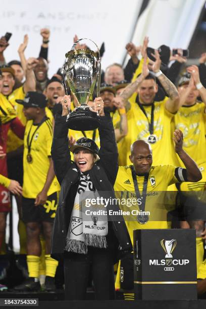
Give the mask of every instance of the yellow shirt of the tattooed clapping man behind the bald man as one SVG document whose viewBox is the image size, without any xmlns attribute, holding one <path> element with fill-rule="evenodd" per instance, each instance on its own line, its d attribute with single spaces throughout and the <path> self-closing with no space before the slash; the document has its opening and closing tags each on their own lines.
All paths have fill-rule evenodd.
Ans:
<svg viewBox="0 0 206 309">
<path fill-rule="evenodd" d="M 174 114 L 166 109 L 165 97 L 163 101 L 155 101 L 154 119 L 153 119 L 153 135 L 156 136 L 157 141 L 150 143 L 153 154 L 154 165 L 178 165 L 176 154 L 174 150 L 174 143 L 172 140 L 171 122 Z M 131 109 L 127 113 L 128 134 L 119 142 L 119 165 L 131 164 L 129 160 L 130 146 L 136 140 L 142 139 L 148 141 L 150 136 L 149 124 L 151 122 L 151 108 L 152 105 L 144 105 L 143 108 L 147 115 L 144 115 L 140 107 L 135 101 L 131 101 Z"/>
</svg>

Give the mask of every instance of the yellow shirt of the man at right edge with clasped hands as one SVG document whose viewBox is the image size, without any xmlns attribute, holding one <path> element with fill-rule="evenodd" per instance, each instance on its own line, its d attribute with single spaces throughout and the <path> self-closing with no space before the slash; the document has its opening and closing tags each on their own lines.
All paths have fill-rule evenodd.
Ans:
<svg viewBox="0 0 206 309">
<path fill-rule="evenodd" d="M 175 128 L 184 134 L 183 149 L 195 162 L 205 161 L 205 104 L 201 102 L 193 106 L 182 106 L 175 115 L 174 122 Z M 178 160 L 179 165 L 184 167 L 183 162 L 179 158 Z"/>
</svg>

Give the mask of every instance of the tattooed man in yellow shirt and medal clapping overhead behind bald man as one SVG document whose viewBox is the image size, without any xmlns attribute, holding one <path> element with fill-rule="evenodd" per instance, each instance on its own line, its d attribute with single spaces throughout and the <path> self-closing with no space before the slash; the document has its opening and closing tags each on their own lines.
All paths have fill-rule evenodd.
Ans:
<svg viewBox="0 0 206 309">
<path fill-rule="evenodd" d="M 121 93 L 125 101 L 128 120 L 128 134 L 121 142 L 119 152 L 122 165 L 129 164 L 130 145 L 138 139 L 148 141 L 152 147 L 155 165 L 176 165 L 172 142 L 171 121 L 178 110 L 179 94 L 173 83 L 160 71 L 161 60 L 156 50 L 153 74 L 149 73 L 146 57 L 142 73 Z M 158 91 L 156 77 L 169 97 L 163 101 L 154 101 Z M 129 97 L 138 91 L 138 100 L 128 102 Z M 128 102 L 128 103 L 127 103 Z"/>
</svg>

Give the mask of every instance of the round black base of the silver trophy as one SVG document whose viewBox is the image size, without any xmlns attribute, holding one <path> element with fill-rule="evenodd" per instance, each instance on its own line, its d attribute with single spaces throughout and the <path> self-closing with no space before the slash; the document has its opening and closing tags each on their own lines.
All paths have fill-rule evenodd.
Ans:
<svg viewBox="0 0 206 309">
<path fill-rule="evenodd" d="M 100 124 L 100 117 L 96 112 L 92 112 L 87 106 L 77 107 L 67 116 L 69 129 L 75 131 L 95 130 Z"/>
</svg>

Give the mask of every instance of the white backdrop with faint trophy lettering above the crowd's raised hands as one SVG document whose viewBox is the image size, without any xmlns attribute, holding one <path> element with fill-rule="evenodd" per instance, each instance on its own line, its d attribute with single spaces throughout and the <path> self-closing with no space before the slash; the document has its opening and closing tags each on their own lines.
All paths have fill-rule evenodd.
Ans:
<svg viewBox="0 0 206 309">
<path fill-rule="evenodd" d="M 42 42 L 41 28 L 51 31 L 49 41 L 49 76 L 62 66 L 75 34 L 94 40 L 106 52 L 102 68 L 122 63 L 125 45 L 131 40 L 142 0 L 1 0 L 1 33 L 12 32 L 6 61 L 19 59 L 17 49 L 28 34 L 26 57 L 38 57 Z"/>
</svg>

